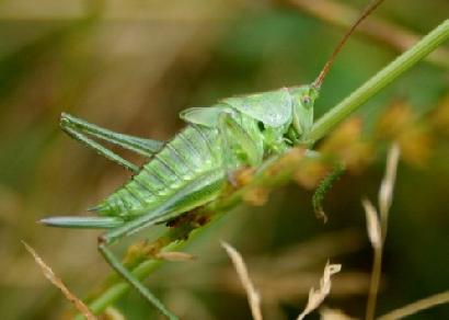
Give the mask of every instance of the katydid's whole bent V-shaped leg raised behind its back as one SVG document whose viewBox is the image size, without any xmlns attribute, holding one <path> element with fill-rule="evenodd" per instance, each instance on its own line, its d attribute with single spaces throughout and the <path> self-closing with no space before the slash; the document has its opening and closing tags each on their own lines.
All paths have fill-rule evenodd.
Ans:
<svg viewBox="0 0 449 320">
<path fill-rule="evenodd" d="M 151 155 L 159 151 L 163 145 L 163 142 L 157 140 L 142 139 L 114 133 L 65 113 L 61 114 L 60 126 L 62 130 L 73 139 L 94 149 L 101 156 L 133 172 L 139 170 L 136 164 L 123 159 L 120 156 L 91 139 L 89 136 L 114 144 L 145 157 L 151 157 Z"/>
</svg>

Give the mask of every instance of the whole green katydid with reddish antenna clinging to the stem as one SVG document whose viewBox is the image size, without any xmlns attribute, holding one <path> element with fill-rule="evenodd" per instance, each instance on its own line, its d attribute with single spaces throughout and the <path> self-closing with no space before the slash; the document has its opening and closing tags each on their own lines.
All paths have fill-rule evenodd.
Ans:
<svg viewBox="0 0 449 320">
<path fill-rule="evenodd" d="M 41 221 L 54 227 L 110 229 L 99 238 L 99 250 L 105 260 L 160 312 L 176 319 L 108 245 L 217 198 L 227 180 L 242 165 L 258 167 L 273 155 L 308 145 L 313 104 L 336 54 L 356 26 L 381 2 L 376 0 L 365 10 L 311 84 L 228 98 L 210 107 L 185 110 L 181 118 L 187 127 L 166 144 L 117 134 L 62 114 L 61 127 L 67 134 L 130 170 L 134 176 L 89 209 L 99 216 L 49 217 Z M 138 168 L 99 140 L 137 152 L 149 161 Z"/>
</svg>

